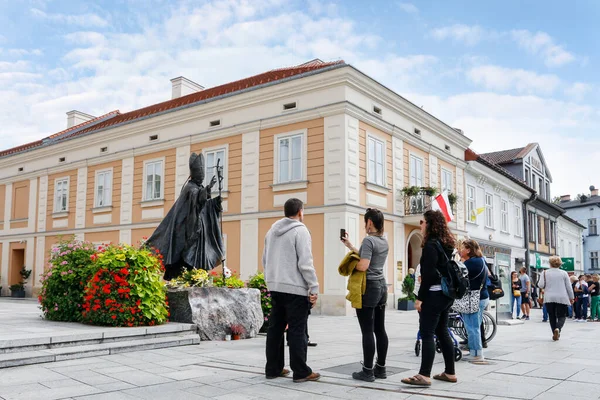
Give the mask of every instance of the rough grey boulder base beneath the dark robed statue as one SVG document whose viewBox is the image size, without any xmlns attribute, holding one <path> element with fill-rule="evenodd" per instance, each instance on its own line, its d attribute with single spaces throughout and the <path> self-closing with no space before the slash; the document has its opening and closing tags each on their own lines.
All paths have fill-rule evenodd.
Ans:
<svg viewBox="0 0 600 400">
<path fill-rule="evenodd" d="M 232 325 L 242 325 L 242 338 L 255 337 L 264 317 L 258 289 L 187 288 L 169 289 L 169 318 L 195 324 L 200 340 L 225 340 Z"/>
</svg>

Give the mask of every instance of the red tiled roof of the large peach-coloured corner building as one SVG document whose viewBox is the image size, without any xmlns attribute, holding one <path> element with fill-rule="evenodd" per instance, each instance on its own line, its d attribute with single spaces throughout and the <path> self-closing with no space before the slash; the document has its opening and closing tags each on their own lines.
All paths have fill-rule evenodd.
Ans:
<svg viewBox="0 0 600 400">
<path fill-rule="evenodd" d="M 224 85 L 204 89 L 199 92 L 164 101 L 162 103 L 153 104 L 151 106 L 133 110 L 127 113 L 113 111 L 101 117 L 94 118 L 93 120 L 86 121 L 67 130 L 48 136 L 43 140 L 3 150 L 0 152 L 0 157 L 22 153 L 47 144 L 53 144 L 58 140 L 64 140 L 67 138 L 73 138 L 92 133 L 110 126 L 121 125 L 139 119 L 148 118 L 169 110 L 174 111 L 179 108 L 201 104 L 206 101 L 217 100 L 223 96 L 237 94 L 253 88 L 257 89 L 263 85 L 281 83 L 290 78 L 300 78 L 308 73 L 323 72 L 331 68 L 337 68 L 346 65 L 347 64 L 343 60 L 323 62 L 319 59 L 315 59 L 304 64 L 274 69 L 262 74 L 251 76 L 249 78 L 244 78 L 238 81 L 226 83 Z"/>
</svg>

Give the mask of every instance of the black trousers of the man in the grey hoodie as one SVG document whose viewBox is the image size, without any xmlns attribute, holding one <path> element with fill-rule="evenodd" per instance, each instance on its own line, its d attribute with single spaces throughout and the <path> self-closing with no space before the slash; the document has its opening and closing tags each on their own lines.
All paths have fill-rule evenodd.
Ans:
<svg viewBox="0 0 600 400">
<path fill-rule="evenodd" d="M 308 338 L 306 323 L 310 310 L 307 296 L 289 293 L 271 292 L 272 309 L 267 331 L 267 376 L 279 376 L 285 366 L 283 334 L 288 326 L 288 342 L 290 346 L 290 367 L 294 379 L 306 378 L 312 370 L 306 365 Z"/>
</svg>

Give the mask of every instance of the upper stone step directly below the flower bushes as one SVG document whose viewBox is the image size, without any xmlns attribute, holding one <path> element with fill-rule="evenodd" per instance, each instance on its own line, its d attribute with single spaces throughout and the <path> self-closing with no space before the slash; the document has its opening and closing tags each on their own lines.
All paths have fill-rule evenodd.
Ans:
<svg viewBox="0 0 600 400">
<path fill-rule="evenodd" d="M 73 324 L 78 328 L 80 324 Z M 76 330 L 76 329 L 74 329 Z M 0 340 L 0 355 L 47 350 L 62 347 L 86 346 L 103 343 L 115 343 L 123 341 L 144 340 L 152 338 L 161 338 L 177 335 L 194 334 L 197 335 L 197 328 L 194 324 L 168 323 L 160 326 L 147 326 L 135 328 L 110 328 L 98 327 L 92 331 L 86 331 L 73 334 L 54 334 L 54 335 L 29 335 L 14 338 L 4 338 Z"/>
</svg>

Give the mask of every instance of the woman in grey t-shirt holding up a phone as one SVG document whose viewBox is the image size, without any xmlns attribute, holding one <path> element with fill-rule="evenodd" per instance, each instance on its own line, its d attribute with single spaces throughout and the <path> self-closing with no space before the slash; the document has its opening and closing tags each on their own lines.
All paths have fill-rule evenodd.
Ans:
<svg viewBox="0 0 600 400">
<path fill-rule="evenodd" d="M 348 234 L 342 243 L 360 255 L 356 266 L 358 271 L 367 271 L 367 285 L 362 296 L 362 308 L 356 309 L 356 316 L 362 332 L 363 368 L 354 372 L 352 378 L 373 382 L 375 378 L 385 379 L 385 358 L 388 350 L 388 337 L 385 332 L 385 306 L 387 304 L 387 284 L 383 276 L 385 260 L 388 254 L 388 242 L 383 237 L 384 218 L 381 211 L 367 208 L 365 213 L 365 232 L 360 249 L 348 240 Z M 373 358 L 377 348 L 377 362 L 373 367 Z"/>
</svg>

